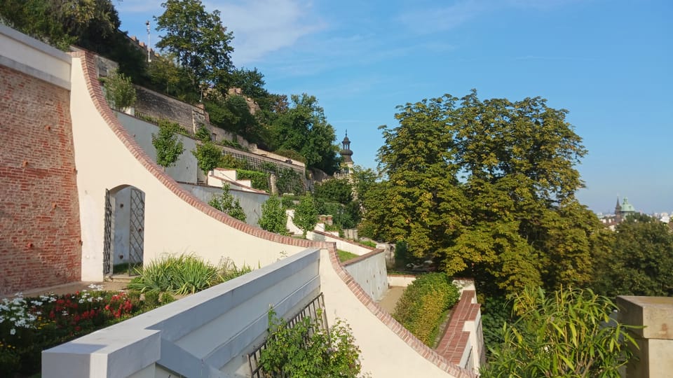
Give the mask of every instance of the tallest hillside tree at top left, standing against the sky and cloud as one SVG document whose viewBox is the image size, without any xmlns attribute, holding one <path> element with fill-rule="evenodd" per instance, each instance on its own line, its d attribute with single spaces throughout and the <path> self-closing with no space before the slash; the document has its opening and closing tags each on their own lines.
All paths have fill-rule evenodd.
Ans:
<svg viewBox="0 0 673 378">
<path fill-rule="evenodd" d="M 161 6 L 165 10 L 155 20 L 165 34 L 156 46 L 175 54 L 195 86 L 224 80 L 233 69 L 233 33 L 222 25 L 219 10 L 207 12 L 200 0 L 167 0 Z"/>
</svg>

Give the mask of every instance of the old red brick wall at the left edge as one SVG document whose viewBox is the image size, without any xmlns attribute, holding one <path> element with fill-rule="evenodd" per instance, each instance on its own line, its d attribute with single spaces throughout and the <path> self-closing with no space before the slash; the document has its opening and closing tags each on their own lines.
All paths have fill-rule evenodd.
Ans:
<svg viewBox="0 0 673 378">
<path fill-rule="evenodd" d="M 69 91 L 0 66 L 0 295 L 79 281 Z"/>
</svg>

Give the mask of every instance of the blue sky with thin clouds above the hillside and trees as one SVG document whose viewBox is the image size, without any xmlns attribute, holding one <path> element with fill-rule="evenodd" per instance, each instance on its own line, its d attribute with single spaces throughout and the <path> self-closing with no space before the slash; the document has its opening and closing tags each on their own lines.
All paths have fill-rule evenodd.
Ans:
<svg viewBox="0 0 673 378">
<path fill-rule="evenodd" d="M 589 154 L 578 197 L 611 212 L 673 211 L 673 1 L 213 0 L 233 31 L 233 62 L 264 73 L 274 93 L 318 97 L 376 167 L 379 125 L 395 106 L 461 97 L 541 96 L 570 111 Z M 122 30 L 147 40 L 161 1 L 117 4 Z M 151 43 L 158 38 L 151 30 Z"/>
</svg>

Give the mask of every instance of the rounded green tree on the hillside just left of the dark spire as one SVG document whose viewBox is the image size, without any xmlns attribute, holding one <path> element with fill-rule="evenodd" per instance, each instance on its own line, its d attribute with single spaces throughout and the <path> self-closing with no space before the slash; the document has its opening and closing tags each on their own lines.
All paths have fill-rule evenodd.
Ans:
<svg viewBox="0 0 673 378">
<path fill-rule="evenodd" d="M 297 151 L 306 158 L 308 167 L 322 169 L 327 174 L 339 170 L 334 127 L 327 123 L 314 96 L 293 94 L 292 106 L 272 121 L 269 130 L 268 144 L 272 151 Z"/>
</svg>

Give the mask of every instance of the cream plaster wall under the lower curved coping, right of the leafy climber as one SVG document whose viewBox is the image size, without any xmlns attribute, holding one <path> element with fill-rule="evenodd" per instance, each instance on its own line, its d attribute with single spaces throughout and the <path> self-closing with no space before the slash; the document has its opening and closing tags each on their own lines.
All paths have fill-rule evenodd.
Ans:
<svg viewBox="0 0 673 378">
<path fill-rule="evenodd" d="M 329 264 L 326 250 L 322 250 L 320 258 L 320 286 L 329 324 L 338 317 L 351 325 L 355 344 L 362 351 L 363 372 L 372 377 L 452 377 L 412 349 L 353 295 Z"/>
</svg>

